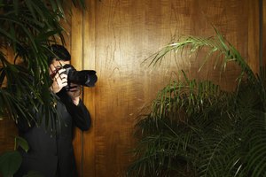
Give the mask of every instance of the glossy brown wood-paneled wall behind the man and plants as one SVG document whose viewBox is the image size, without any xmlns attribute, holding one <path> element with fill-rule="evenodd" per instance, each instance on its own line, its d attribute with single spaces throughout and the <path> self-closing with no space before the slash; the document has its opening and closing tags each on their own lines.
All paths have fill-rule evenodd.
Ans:
<svg viewBox="0 0 266 177">
<path fill-rule="evenodd" d="M 200 63 L 193 59 L 180 58 L 176 64 L 166 60 L 160 67 L 143 63 L 174 37 L 215 35 L 214 25 L 258 71 L 258 0 L 85 2 L 87 10 L 73 7 L 72 18 L 66 23 L 72 64 L 78 70 L 95 69 L 98 73 L 96 87 L 84 88 L 83 93 L 92 127 L 84 133 L 75 131 L 76 161 L 83 177 L 124 176 L 132 160 L 128 151 L 134 146 L 134 120 L 157 91 L 176 77 L 176 70 L 201 79 L 210 77 L 224 89 L 231 89 L 238 71 L 235 66 L 219 78 L 219 71 L 209 67 L 198 73 Z M 6 126 L 3 122 L 1 128 Z M 1 131 L 2 137 L 6 131 L 11 130 Z"/>
</svg>

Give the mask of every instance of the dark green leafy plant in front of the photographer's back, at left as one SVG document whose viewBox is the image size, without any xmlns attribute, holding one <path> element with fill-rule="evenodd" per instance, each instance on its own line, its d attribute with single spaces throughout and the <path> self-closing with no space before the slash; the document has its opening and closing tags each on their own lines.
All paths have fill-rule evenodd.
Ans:
<svg viewBox="0 0 266 177">
<path fill-rule="evenodd" d="M 61 22 L 66 20 L 71 4 L 85 7 L 83 0 L 0 1 L 0 119 L 16 122 L 26 119 L 31 125 L 36 121 L 32 113 L 39 111 L 45 114 L 45 119 L 36 124 L 45 121 L 49 125 L 56 121 L 51 119 L 51 114 L 57 114 L 52 105 L 55 97 L 49 91 L 47 58 L 56 57 L 50 50 L 51 43 L 65 44 Z M 5 55 L 5 51 L 11 55 Z M 43 104 L 43 110 L 37 109 L 39 104 Z M 25 150 L 23 144 L 27 142 L 20 137 L 15 140 L 20 140 L 18 143 Z M 4 177 L 12 176 L 21 161 L 15 145 L 13 151 L 1 154 L 0 173 Z M 27 176 L 40 175 L 28 173 Z"/>
</svg>

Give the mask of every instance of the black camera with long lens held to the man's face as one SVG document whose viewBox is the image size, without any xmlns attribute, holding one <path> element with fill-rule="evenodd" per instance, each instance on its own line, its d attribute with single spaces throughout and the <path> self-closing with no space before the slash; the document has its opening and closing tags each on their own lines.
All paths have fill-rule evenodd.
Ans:
<svg viewBox="0 0 266 177">
<path fill-rule="evenodd" d="M 63 68 L 66 69 L 67 75 L 66 89 L 70 88 L 70 83 L 75 83 L 86 87 L 94 87 L 98 80 L 96 71 L 94 70 L 76 71 L 73 65 L 63 65 Z"/>
</svg>

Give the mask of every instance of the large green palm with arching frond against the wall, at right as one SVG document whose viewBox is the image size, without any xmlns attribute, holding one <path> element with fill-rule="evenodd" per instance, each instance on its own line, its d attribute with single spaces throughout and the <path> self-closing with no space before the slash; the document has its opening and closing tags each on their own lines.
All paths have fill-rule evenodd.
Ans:
<svg viewBox="0 0 266 177">
<path fill-rule="evenodd" d="M 266 175 L 264 74 L 256 75 L 215 32 L 214 37 L 186 36 L 167 45 L 152 56 L 150 65 L 160 64 L 171 52 L 204 52 L 204 63 L 214 59 L 216 67 L 222 59 L 223 71 L 229 62 L 239 65 L 235 89 L 188 79 L 184 72 L 183 80 L 161 89 L 151 111 L 137 119 L 136 159 L 129 176 Z"/>
</svg>

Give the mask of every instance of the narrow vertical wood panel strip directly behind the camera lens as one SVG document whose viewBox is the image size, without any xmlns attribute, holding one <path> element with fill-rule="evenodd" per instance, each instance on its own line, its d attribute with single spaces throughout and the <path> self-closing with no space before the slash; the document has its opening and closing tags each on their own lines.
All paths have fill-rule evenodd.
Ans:
<svg viewBox="0 0 266 177">
<path fill-rule="evenodd" d="M 95 1 L 87 1 L 86 7 L 88 11 L 84 11 L 84 39 L 83 39 L 83 66 L 86 69 L 96 70 L 96 40 L 95 40 Z M 90 127 L 90 131 L 84 133 L 84 143 L 83 143 L 83 176 L 96 176 L 96 149 L 95 146 L 95 125 L 97 122 L 96 118 L 96 104 L 98 100 L 96 100 L 97 96 L 97 87 L 96 88 L 84 88 L 84 102 L 87 107 L 90 109 L 90 114 L 92 116 L 92 124 Z"/>
</svg>

